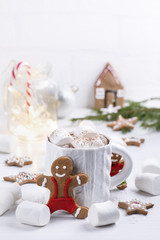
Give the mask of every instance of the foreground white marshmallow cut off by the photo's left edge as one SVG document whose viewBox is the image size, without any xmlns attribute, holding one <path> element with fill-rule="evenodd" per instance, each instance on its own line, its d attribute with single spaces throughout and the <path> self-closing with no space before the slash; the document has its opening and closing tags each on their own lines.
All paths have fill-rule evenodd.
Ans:
<svg viewBox="0 0 160 240">
<path fill-rule="evenodd" d="M 21 198 L 21 189 L 18 183 L 12 187 L 0 189 L 0 215 L 9 210 Z"/>
</svg>

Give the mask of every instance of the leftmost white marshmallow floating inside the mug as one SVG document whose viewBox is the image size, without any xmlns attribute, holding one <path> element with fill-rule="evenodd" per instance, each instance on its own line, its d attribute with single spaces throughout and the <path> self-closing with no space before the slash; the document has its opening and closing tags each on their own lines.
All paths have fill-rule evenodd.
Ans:
<svg viewBox="0 0 160 240">
<path fill-rule="evenodd" d="M 51 143 L 63 146 L 72 142 L 72 136 L 64 129 L 56 129 L 49 137 Z"/>
</svg>

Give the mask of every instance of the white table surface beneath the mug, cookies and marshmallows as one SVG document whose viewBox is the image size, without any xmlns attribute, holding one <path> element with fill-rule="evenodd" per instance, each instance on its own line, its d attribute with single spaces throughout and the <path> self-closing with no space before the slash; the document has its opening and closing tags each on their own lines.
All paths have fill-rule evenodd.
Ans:
<svg viewBox="0 0 160 240">
<path fill-rule="evenodd" d="M 72 114 L 73 116 L 83 116 L 88 110 L 78 110 Z M 69 118 L 58 121 L 59 127 L 73 126 L 68 120 Z M 109 136 L 115 135 L 121 137 L 121 132 L 113 132 L 112 129 L 106 127 L 105 122 L 95 122 L 98 131 L 103 131 Z M 3 128 L 3 133 L 4 133 Z M 2 133 L 2 130 L 1 130 Z M 57 212 L 51 216 L 50 223 L 45 227 L 33 227 L 19 223 L 15 217 L 17 206 L 12 207 L 4 215 L 0 216 L 0 236 L 1 239 L 122 239 L 122 240 L 158 240 L 160 239 L 160 196 L 152 196 L 136 189 L 134 181 L 135 176 L 141 171 L 142 162 L 149 157 L 157 157 L 160 160 L 160 132 L 152 132 L 144 130 L 136 124 L 134 130 L 126 136 L 144 137 L 145 142 L 141 147 L 127 146 L 130 152 L 134 166 L 133 171 L 127 179 L 128 187 L 123 190 L 114 189 L 111 191 L 111 200 L 117 204 L 119 200 L 131 200 L 138 198 L 142 201 L 154 203 L 154 207 L 148 210 L 148 215 L 126 215 L 126 211 L 119 209 L 120 219 L 116 224 L 105 227 L 95 228 L 90 225 L 88 219 L 77 220 L 72 215 L 64 212 Z M 6 154 L 0 154 L 0 186 L 10 185 L 2 180 L 3 176 L 16 174 L 19 171 L 45 171 L 45 141 L 22 144 L 14 142 L 13 153 L 19 151 L 24 154 L 32 153 L 33 164 L 25 166 L 23 169 L 17 167 L 8 167 L 4 164 Z M 21 187 L 22 194 L 28 197 L 32 196 L 35 184 L 26 184 Z"/>
</svg>

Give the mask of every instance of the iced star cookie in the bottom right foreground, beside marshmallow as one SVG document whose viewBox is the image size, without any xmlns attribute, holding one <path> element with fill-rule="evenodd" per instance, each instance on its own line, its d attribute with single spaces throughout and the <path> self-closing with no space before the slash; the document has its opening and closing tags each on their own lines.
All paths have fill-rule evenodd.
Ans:
<svg viewBox="0 0 160 240">
<path fill-rule="evenodd" d="M 152 208 L 153 206 L 154 204 L 152 203 L 143 203 L 138 199 L 118 203 L 118 207 L 126 209 L 128 215 L 137 213 L 147 215 L 147 209 Z"/>
</svg>

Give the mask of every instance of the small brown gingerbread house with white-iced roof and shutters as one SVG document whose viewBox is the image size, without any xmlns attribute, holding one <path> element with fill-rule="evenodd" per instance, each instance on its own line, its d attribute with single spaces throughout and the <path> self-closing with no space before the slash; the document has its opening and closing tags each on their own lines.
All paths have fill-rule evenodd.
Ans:
<svg viewBox="0 0 160 240">
<path fill-rule="evenodd" d="M 94 89 L 95 108 L 106 108 L 110 104 L 123 106 L 124 87 L 109 63 L 96 80 Z"/>
</svg>

